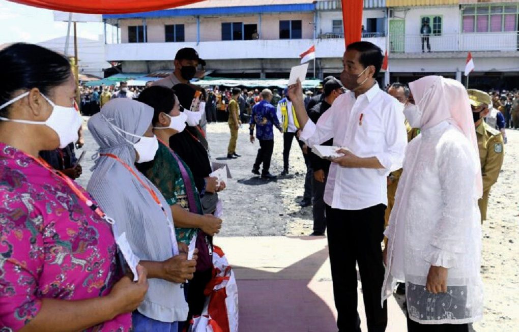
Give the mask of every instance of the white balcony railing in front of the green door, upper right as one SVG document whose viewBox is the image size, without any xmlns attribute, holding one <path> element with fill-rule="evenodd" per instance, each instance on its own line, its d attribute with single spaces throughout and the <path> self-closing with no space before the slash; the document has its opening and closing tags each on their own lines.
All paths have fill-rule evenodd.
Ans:
<svg viewBox="0 0 519 332">
<path fill-rule="evenodd" d="M 391 53 L 427 52 L 427 38 L 431 52 L 458 51 L 517 51 L 519 32 L 462 33 L 430 35 L 389 35 Z"/>
</svg>

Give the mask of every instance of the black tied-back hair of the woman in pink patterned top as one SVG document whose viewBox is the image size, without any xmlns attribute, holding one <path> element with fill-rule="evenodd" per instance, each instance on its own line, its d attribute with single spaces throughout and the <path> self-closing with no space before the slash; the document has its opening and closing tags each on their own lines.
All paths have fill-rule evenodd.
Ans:
<svg viewBox="0 0 519 332">
<path fill-rule="evenodd" d="M 16 97 L 18 90 L 38 88 L 45 95 L 69 79 L 72 69 L 65 57 L 45 47 L 16 43 L 0 51 L 2 77 L 0 80 L 0 105 Z M 8 109 L 0 116 L 8 117 Z"/>
</svg>

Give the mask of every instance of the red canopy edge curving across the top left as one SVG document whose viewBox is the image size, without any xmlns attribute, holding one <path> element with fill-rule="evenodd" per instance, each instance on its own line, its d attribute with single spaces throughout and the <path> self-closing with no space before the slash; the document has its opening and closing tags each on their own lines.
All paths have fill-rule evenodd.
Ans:
<svg viewBox="0 0 519 332">
<path fill-rule="evenodd" d="M 125 14 L 193 4 L 202 0 L 9 0 L 11 2 L 86 14 Z"/>
</svg>

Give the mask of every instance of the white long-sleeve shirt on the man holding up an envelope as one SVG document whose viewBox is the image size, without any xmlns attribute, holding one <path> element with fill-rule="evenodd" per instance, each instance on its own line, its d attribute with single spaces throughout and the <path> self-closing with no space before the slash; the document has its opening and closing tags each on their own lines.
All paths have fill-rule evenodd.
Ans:
<svg viewBox="0 0 519 332">
<path fill-rule="evenodd" d="M 340 95 L 317 121 L 308 120 L 301 140 L 309 147 L 333 138 L 362 158 L 376 157 L 384 169 L 344 168 L 332 163 L 324 202 L 334 209 L 362 210 L 387 205 L 387 175 L 402 167 L 407 131 L 402 104 L 375 84 L 355 98 Z"/>
</svg>

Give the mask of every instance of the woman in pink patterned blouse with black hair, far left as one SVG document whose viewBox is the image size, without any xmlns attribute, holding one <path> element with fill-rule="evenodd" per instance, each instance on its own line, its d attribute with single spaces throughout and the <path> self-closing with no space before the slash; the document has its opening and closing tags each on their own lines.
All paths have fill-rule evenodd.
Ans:
<svg viewBox="0 0 519 332">
<path fill-rule="evenodd" d="M 0 81 L 0 330 L 128 331 L 147 290 L 145 269 L 138 282 L 120 279 L 102 212 L 36 159 L 77 140 L 69 62 L 14 44 L 0 63 L 8 77 Z"/>
</svg>

